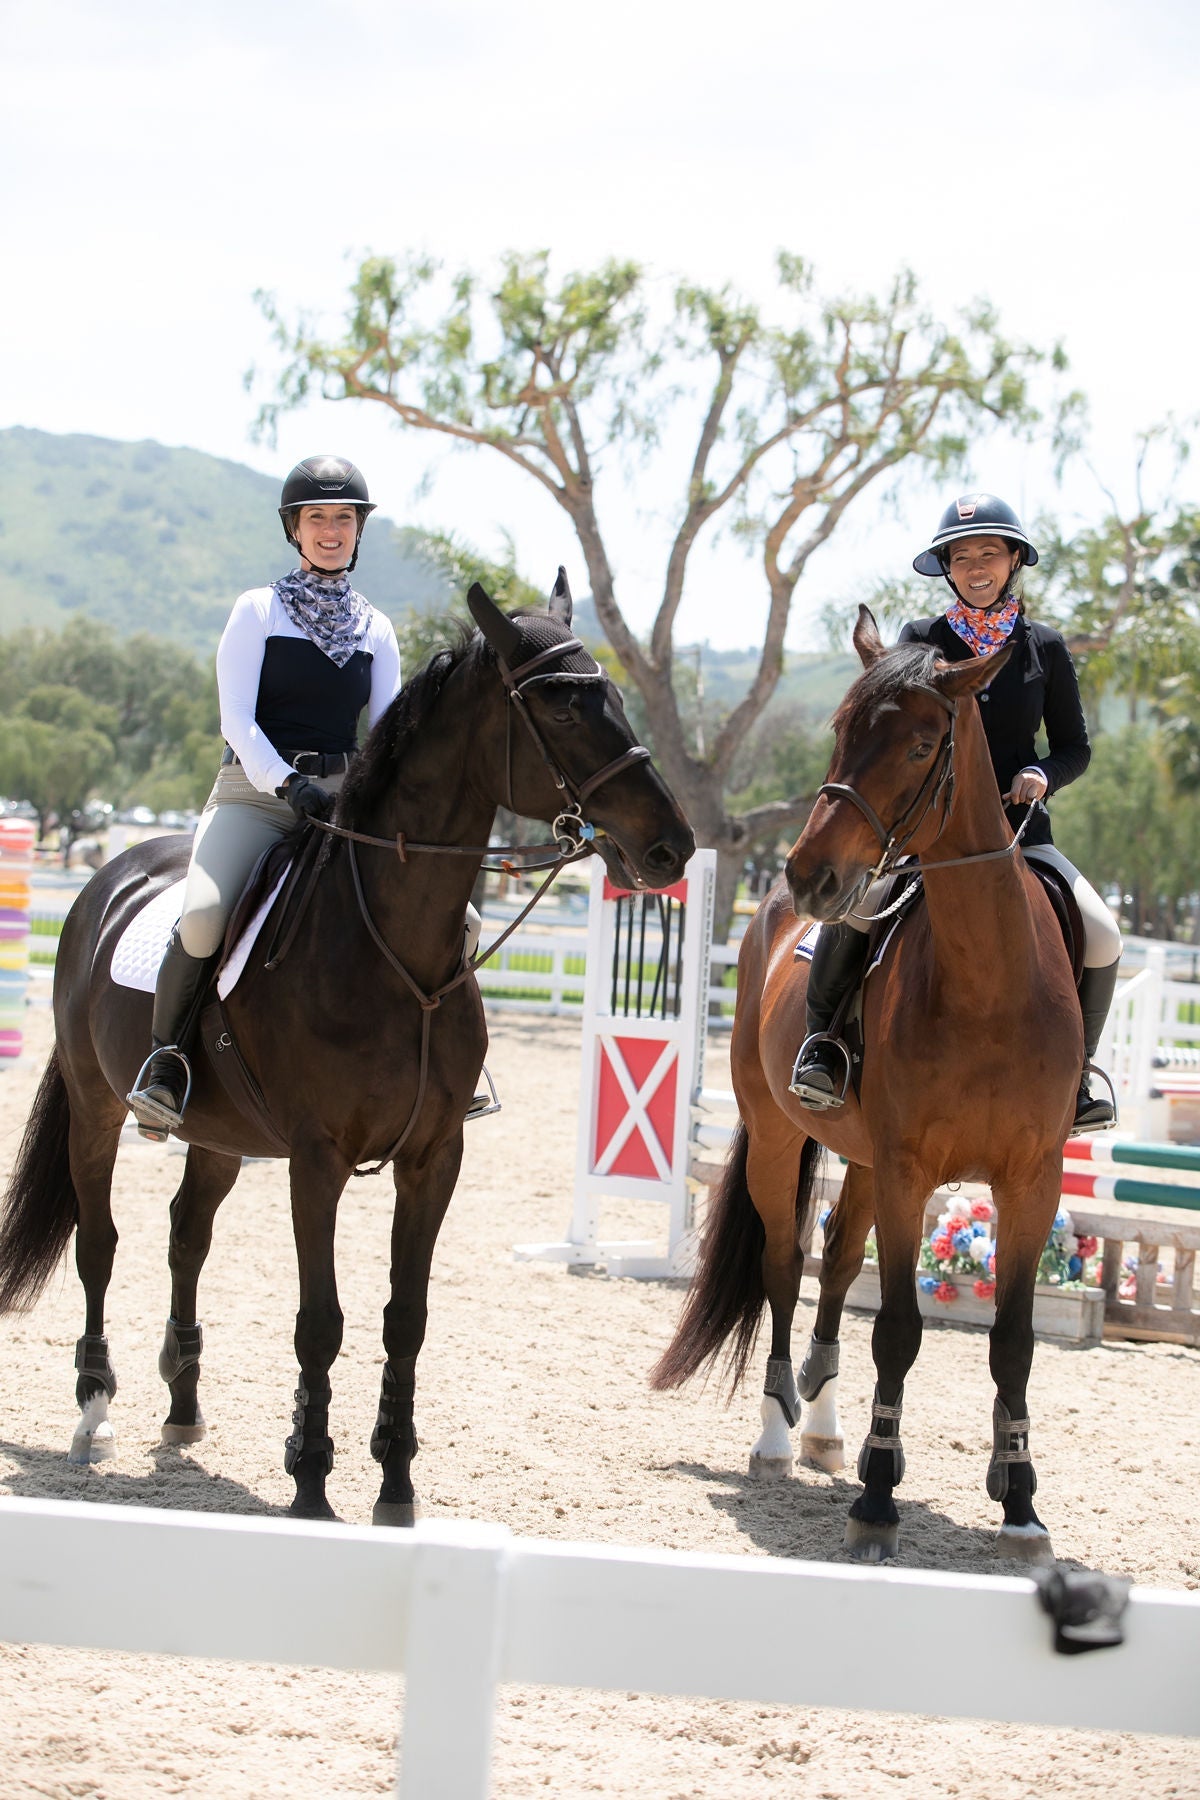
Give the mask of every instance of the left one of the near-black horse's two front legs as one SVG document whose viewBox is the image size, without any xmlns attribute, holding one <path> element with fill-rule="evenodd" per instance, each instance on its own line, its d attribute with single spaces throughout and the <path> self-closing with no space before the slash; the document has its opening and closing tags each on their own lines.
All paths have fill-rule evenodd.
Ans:
<svg viewBox="0 0 1200 1800">
<path fill-rule="evenodd" d="M 284 1469 L 295 1481 L 295 1499 L 288 1512 L 297 1519 L 336 1517 L 326 1499 L 326 1480 L 333 1469 L 329 1370 L 342 1348 L 333 1235 L 347 1175 L 345 1159 L 327 1139 L 291 1147 L 291 1229 L 300 1276 L 295 1355 L 300 1381 Z"/>
</svg>

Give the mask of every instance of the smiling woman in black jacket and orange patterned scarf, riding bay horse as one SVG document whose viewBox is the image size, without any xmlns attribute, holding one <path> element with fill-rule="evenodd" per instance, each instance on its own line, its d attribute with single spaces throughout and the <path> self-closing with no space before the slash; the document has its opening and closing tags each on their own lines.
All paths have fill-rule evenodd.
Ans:
<svg viewBox="0 0 1200 1800">
<path fill-rule="evenodd" d="M 1013 641 L 1015 653 L 979 695 L 991 767 L 1013 830 L 1024 824 L 1033 801 L 1081 776 L 1092 756 L 1070 652 L 1052 626 L 1025 617 L 1015 585 L 1020 569 L 1036 560 L 1038 553 L 1011 506 L 993 493 L 964 493 L 946 508 L 934 542 L 912 563 L 918 574 L 945 576 L 954 598 L 945 612 L 910 621 L 900 634 L 901 643 L 934 644 L 946 662 L 964 662 Z M 1045 727 L 1047 756 L 1036 754 L 1040 725 Z M 1117 985 L 1121 932 L 1090 882 L 1054 848 L 1043 806 L 1029 819 L 1022 850 L 1067 878 L 1083 914 L 1087 945 L 1079 1004 L 1085 1067 L 1072 1130 L 1101 1130 L 1114 1123 L 1114 1111 L 1106 1098 L 1092 1098 L 1087 1066 L 1096 1055 Z M 829 1030 L 844 995 L 862 977 L 871 911 L 867 895 L 858 909 L 862 925 L 842 922 L 820 929 L 808 979 L 810 1039 Z M 846 1051 L 838 1042 L 806 1040 L 792 1093 L 813 1109 L 842 1105 L 846 1067 Z"/>
</svg>

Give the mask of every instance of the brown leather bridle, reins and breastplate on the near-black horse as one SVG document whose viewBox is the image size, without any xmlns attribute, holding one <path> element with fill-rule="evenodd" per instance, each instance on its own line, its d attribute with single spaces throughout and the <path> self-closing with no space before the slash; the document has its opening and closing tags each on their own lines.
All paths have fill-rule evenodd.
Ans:
<svg viewBox="0 0 1200 1800">
<path fill-rule="evenodd" d="M 378 1175 L 380 1170 L 387 1168 L 387 1165 L 405 1147 L 405 1143 L 408 1141 L 408 1138 L 410 1138 L 410 1134 L 412 1134 L 412 1130 L 414 1130 L 414 1127 L 417 1123 L 417 1118 L 421 1114 L 421 1107 L 425 1103 L 425 1089 L 426 1089 L 426 1084 L 428 1084 L 430 1021 L 432 1021 L 434 1013 L 437 1012 L 437 1008 L 441 1006 L 441 1003 L 446 999 L 448 994 L 453 994 L 455 988 L 462 986 L 464 981 L 470 981 L 470 977 L 475 974 L 475 970 L 480 968 L 486 961 L 489 961 L 497 954 L 497 950 L 500 949 L 500 945 L 506 943 L 506 940 L 513 936 L 513 932 L 518 929 L 518 925 L 524 925 L 524 922 L 529 918 L 529 914 L 536 907 L 538 900 L 542 900 L 542 896 L 551 887 L 551 882 L 561 873 L 561 869 L 569 862 L 578 862 L 581 857 L 587 857 L 587 855 L 592 853 L 592 846 L 594 846 L 594 841 L 596 841 L 596 826 L 592 823 L 585 821 L 585 817 L 583 817 L 583 808 L 585 808 L 587 801 L 592 797 L 592 794 L 596 794 L 596 790 L 599 787 L 603 787 L 606 781 L 612 781 L 613 776 L 622 774 L 626 769 L 633 769 L 637 763 L 649 761 L 649 751 L 646 749 L 646 745 L 644 743 L 633 743 L 633 745 L 630 745 L 628 751 L 622 751 L 621 756 L 613 756 L 613 760 L 610 763 L 604 763 L 603 769 L 597 769 L 596 774 L 587 776 L 579 783 L 572 781 L 572 778 L 567 774 L 567 770 L 556 761 L 551 747 L 547 745 L 545 738 L 538 731 L 536 722 L 529 715 L 529 707 L 525 704 L 525 693 L 524 693 L 524 689 L 529 688 L 529 686 L 533 686 L 533 684 L 536 684 L 536 682 L 547 682 L 547 680 L 570 680 L 572 686 L 578 684 L 578 682 L 604 682 L 606 684 L 608 682 L 608 675 L 599 666 L 599 662 L 594 662 L 592 671 L 581 671 L 581 673 L 570 673 L 570 675 L 563 675 L 558 670 L 547 670 L 545 668 L 545 664 L 552 662 L 556 657 L 574 655 L 576 652 L 581 652 L 583 655 L 587 655 L 587 650 L 579 643 L 579 639 L 578 637 L 569 637 L 561 644 L 551 644 L 549 650 L 542 650 L 542 652 L 538 652 L 538 655 L 529 657 L 527 662 L 520 662 L 516 673 L 513 673 L 513 670 L 506 662 L 504 655 L 498 650 L 495 652 L 495 655 L 497 655 L 497 666 L 500 670 L 500 679 L 504 680 L 506 695 L 507 695 L 507 700 L 509 700 L 509 706 L 506 709 L 506 729 L 504 729 L 504 769 L 506 769 L 507 808 L 509 808 L 509 812 L 515 812 L 515 806 L 513 806 L 513 707 L 516 707 L 516 711 L 520 713 L 520 718 L 525 724 L 525 729 L 533 736 L 533 742 L 538 745 L 538 751 L 542 754 L 542 760 L 543 760 L 545 767 L 551 772 L 554 787 L 560 790 L 560 794 L 565 796 L 565 805 L 563 805 L 563 810 L 556 815 L 554 824 L 551 826 L 551 830 L 554 832 L 556 853 L 549 859 L 549 862 L 547 860 L 524 862 L 520 868 L 516 868 L 515 864 L 511 864 L 507 860 L 502 860 L 500 864 L 486 864 L 488 871 L 498 869 L 498 871 L 509 873 L 509 875 L 529 873 L 529 871 L 534 871 L 534 869 L 545 869 L 545 868 L 549 868 L 549 875 L 538 886 L 538 891 L 534 893 L 533 900 L 529 900 L 522 907 L 522 911 L 516 914 L 516 918 L 509 925 L 506 925 L 506 929 L 500 932 L 500 936 L 495 938 L 488 945 L 486 950 L 482 950 L 480 954 L 473 956 L 468 963 L 464 963 L 462 968 L 457 972 L 457 976 L 452 976 L 450 981 L 443 981 L 443 985 L 439 988 L 434 988 L 432 992 L 426 992 L 425 988 L 421 988 L 419 983 L 408 974 L 408 970 L 405 968 L 405 965 L 399 961 L 399 958 L 394 954 L 394 950 L 389 947 L 389 943 L 385 941 L 383 934 L 380 932 L 380 927 L 372 920 L 371 909 L 367 905 L 367 895 L 363 891 L 362 875 L 360 875 L 360 869 L 358 869 L 358 853 L 356 853 L 354 846 L 356 844 L 372 844 L 378 850 L 392 850 L 392 851 L 396 851 L 396 855 L 399 857 L 401 862 L 407 862 L 410 855 L 417 855 L 417 853 L 441 855 L 441 857 L 488 857 L 489 853 L 493 853 L 493 855 L 529 855 L 529 853 L 534 853 L 534 851 L 547 850 L 549 846 L 545 846 L 545 844 L 419 844 L 419 842 L 414 842 L 412 839 L 408 839 L 403 832 L 398 832 L 394 837 L 372 837 L 369 832 L 351 832 L 349 826 L 333 824 L 333 821 L 329 821 L 329 819 L 313 819 L 311 821 L 318 830 L 327 832 L 333 837 L 344 837 L 344 839 L 347 839 L 347 857 L 349 857 L 349 866 L 351 866 L 351 880 L 354 884 L 354 898 L 358 902 L 358 911 L 362 914 L 362 922 L 367 927 L 367 934 L 371 936 L 372 943 L 376 945 L 376 949 L 380 950 L 380 954 L 383 956 L 383 959 L 387 961 L 387 965 L 394 970 L 394 974 L 399 976 L 399 979 L 405 983 L 405 986 L 408 988 L 408 992 L 416 999 L 417 1006 L 421 1008 L 421 1062 L 419 1062 L 419 1073 L 417 1073 L 417 1094 L 416 1094 L 416 1100 L 412 1103 L 412 1112 L 408 1114 L 408 1123 L 401 1130 L 399 1138 L 390 1145 L 390 1148 L 383 1152 L 383 1156 L 380 1157 L 380 1161 L 374 1163 L 371 1168 L 356 1168 L 354 1170 L 356 1175 Z M 534 673 L 538 670 L 542 673 Z M 279 963 L 282 961 L 282 958 L 286 956 L 288 949 L 291 947 L 291 941 L 293 941 L 293 938 L 295 938 L 295 934 L 299 931 L 300 920 L 304 916 L 304 911 L 306 911 L 308 902 L 311 898 L 313 887 L 317 884 L 317 875 L 318 873 L 320 873 L 318 866 L 313 864 L 313 873 L 311 873 L 311 877 L 308 880 L 304 895 L 300 896 L 297 911 L 295 911 L 295 914 L 291 918 L 291 925 L 290 925 L 288 932 L 284 934 L 282 943 L 279 943 L 279 947 L 272 945 L 268 959 L 264 963 L 264 968 L 277 968 Z M 284 896 L 284 911 L 286 911 L 286 898 L 288 896 Z"/>
</svg>

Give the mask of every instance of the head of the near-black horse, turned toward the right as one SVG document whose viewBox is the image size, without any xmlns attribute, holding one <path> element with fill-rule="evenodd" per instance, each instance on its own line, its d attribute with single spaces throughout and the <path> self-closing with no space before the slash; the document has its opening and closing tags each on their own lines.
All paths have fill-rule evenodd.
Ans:
<svg viewBox="0 0 1200 1800">
<path fill-rule="evenodd" d="M 594 844 L 622 887 L 666 887 L 696 848 L 687 819 L 639 745 L 621 693 L 570 634 L 565 569 L 549 612 L 504 614 L 475 583 L 468 607 L 507 689 L 497 801 Z"/>
</svg>

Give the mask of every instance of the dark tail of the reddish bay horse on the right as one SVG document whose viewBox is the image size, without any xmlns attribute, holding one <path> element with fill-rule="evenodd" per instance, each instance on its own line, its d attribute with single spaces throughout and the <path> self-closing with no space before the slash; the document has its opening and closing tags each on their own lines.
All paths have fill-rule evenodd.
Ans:
<svg viewBox="0 0 1200 1800">
<path fill-rule="evenodd" d="M 711 1370 L 727 1337 L 732 1337 L 725 1359 L 730 1391 L 745 1377 L 766 1300 L 766 1231 L 747 1184 L 747 1129 L 739 1123 L 729 1147 L 725 1174 L 709 1202 L 696 1274 L 675 1337 L 649 1373 L 651 1388 L 680 1388 L 700 1370 Z M 804 1224 L 819 1159 L 820 1145 L 815 1138 L 806 1138 L 795 1188 L 797 1229 Z"/>
</svg>

